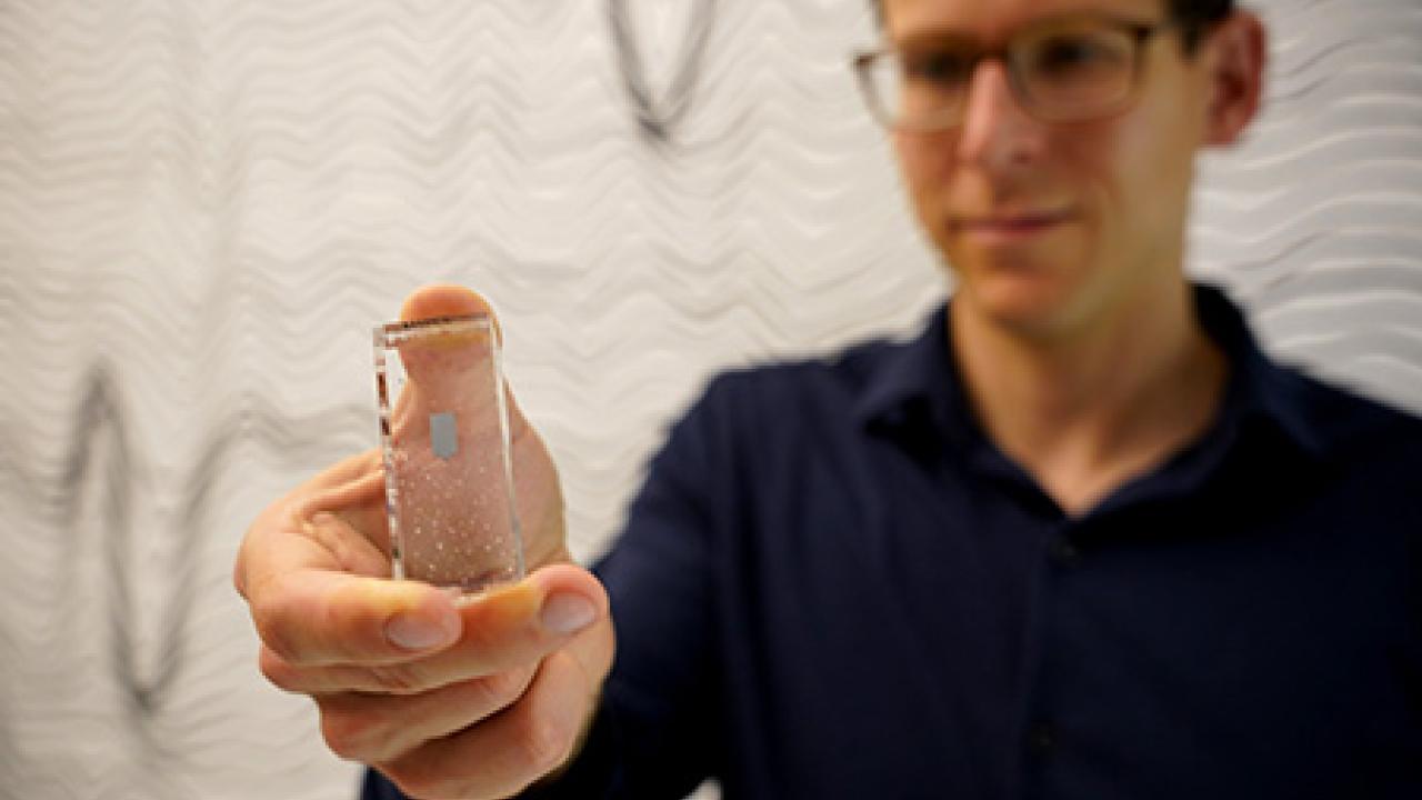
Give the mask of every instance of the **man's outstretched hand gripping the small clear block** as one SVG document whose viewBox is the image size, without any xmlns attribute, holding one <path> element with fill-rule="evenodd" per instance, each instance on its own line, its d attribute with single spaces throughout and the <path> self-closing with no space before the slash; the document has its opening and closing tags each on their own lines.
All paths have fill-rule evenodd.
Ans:
<svg viewBox="0 0 1422 800">
<path fill-rule="evenodd" d="M 401 319 L 488 312 L 434 286 Z M 474 601 L 390 581 L 380 454 L 347 458 L 252 524 L 235 584 L 262 672 L 309 695 L 338 756 L 412 797 L 508 797 L 555 772 L 592 719 L 613 659 L 607 595 L 572 564 L 553 461 L 509 397 L 525 559 L 519 584 Z"/>
</svg>

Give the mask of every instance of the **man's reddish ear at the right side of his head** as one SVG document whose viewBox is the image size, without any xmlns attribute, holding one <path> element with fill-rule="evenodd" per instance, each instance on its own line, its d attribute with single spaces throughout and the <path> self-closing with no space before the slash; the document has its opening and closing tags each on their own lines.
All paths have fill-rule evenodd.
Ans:
<svg viewBox="0 0 1422 800">
<path fill-rule="evenodd" d="M 1209 81 L 1204 142 L 1229 147 L 1258 112 L 1268 58 L 1264 24 L 1249 11 L 1236 11 L 1200 43 Z"/>
</svg>

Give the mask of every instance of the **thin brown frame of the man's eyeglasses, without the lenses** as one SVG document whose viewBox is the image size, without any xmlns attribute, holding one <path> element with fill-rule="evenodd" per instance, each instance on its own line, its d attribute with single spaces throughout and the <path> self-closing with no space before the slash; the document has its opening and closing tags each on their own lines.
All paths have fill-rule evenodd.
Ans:
<svg viewBox="0 0 1422 800">
<path fill-rule="evenodd" d="M 1106 110 L 1096 111 L 1096 112 L 1088 114 L 1085 117 L 1044 118 L 1034 108 L 1035 101 L 1032 100 L 1032 97 L 1027 91 L 1027 88 L 1024 87 L 1022 77 L 1018 74 L 1018 67 L 1015 65 L 1015 63 L 1012 61 L 1012 58 L 1010 58 L 1010 48 L 1011 48 L 1012 38 L 1015 38 L 1017 36 L 1020 36 L 1022 31 L 1032 30 L 1034 27 L 1045 27 L 1049 23 L 1074 21 L 1074 20 L 1082 20 L 1082 19 L 1102 21 L 1102 23 L 1106 23 L 1106 24 L 1109 24 L 1112 27 L 1121 28 L 1125 33 L 1130 34 L 1130 41 L 1132 41 L 1132 51 L 1130 51 L 1130 87 L 1129 87 L 1129 90 L 1122 95 L 1122 98 L 1116 104 L 1108 107 Z M 1103 118 L 1111 117 L 1113 114 L 1119 114 L 1121 111 L 1123 111 L 1125 108 L 1128 108 L 1130 105 L 1130 102 L 1136 98 L 1136 95 L 1140 93 L 1140 75 L 1143 73 L 1143 64 L 1145 64 L 1143 53 L 1145 53 L 1146 44 L 1149 44 L 1149 41 L 1152 38 L 1155 38 L 1156 36 L 1159 36 L 1160 33 L 1165 33 L 1165 31 L 1167 31 L 1170 28 L 1176 28 L 1176 27 L 1185 30 L 1189 26 L 1187 26 L 1187 23 L 1182 21 L 1177 17 L 1165 17 L 1165 19 L 1162 19 L 1159 21 L 1155 21 L 1155 23 L 1140 23 L 1140 21 L 1135 21 L 1135 20 L 1125 20 L 1125 19 L 1121 19 L 1121 17 L 1111 17 L 1111 16 L 1103 16 L 1103 14 L 1066 14 L 1066 16 L 1062 16 L 1062 17 L 1039 20 L 1038 23 L 1032 23 L 1031 26 L 1027 26 L 1027 27 L 1015 31 L 1012 36 L 1007 37 L 1007 41 L 1004 41 L 1003 44 L 1000 44 L 997 47 L 985 47 L 985 48 L 974 53 L 973 58 L 971 58 L 971 61 L 968 64 L 968 73 L 967 73 L 970 75 L 970 78 L 968 78 L 968 87 L 971 88 L 971 75 L 977 73 L 978 65 L 981 65 L 984 61 L 993 60 L 993 61 L 998 61 L 998 63 L 1003 64 L 1003 68 L 1007 71 L 1008 85 L 1012 88 L 1012 98 L 1034 120 L 1037 120 L 1039 122 L 1045 122 L 1045 124 L 1089 122 L 1092 120 L 1103 120 Z M 902 54 L 899 53 L 899 48 L 896 46 L 893 46 L 893 44 L 884 44 L 884 46 L 877 47 L 875 50 L 865 50 L 865 51 L 859 51 L 859 53 L 855 53 L 853 56 L 850 56 L 850 68 L 855 71 L 855 77 L 857 78 L 859 90 L 860 90 L 860 97 L 865 100 L 865 104 L 869 107 L 870 115 L 880 125 L 883 125 L 884 128 L 887 128 L 890 131 L 930 134 L 930 132 L 951 131 L 953 128 L 957 128 L 957 127 L 960 127 L 963 124 L 963 107 L 966 104 L 960 104 L 954 110 L 954 112 L 951 115 L 953 117 L 951 122 L 929 122 L 929 124 L 923 124 L 923 125 L 903 125 L 902 122 L 894 122 L 893 120 L 890 120 L 889 114 L 886 111 L 884 102 L 880 100 L 879 91 L 875 88 L 875 81 L 870 77 L 870 70 L 873 68 L 875 61 L 879 60 L 879 58 L 883 58 L 886 56 L 900 56 L 902 57 Z M 966 100 L 967 98 L 967 93 L 964 93 L 963 97 Z M 947 118 L 950 115 L 944 114 L 944 117 Z"/>
</svg>

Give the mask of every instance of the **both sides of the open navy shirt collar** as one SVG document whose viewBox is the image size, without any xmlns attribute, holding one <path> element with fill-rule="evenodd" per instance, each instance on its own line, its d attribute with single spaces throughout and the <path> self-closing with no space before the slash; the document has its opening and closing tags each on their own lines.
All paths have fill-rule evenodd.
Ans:
<svg viewBox="0 0 1422 800">
<path fill-rule="evenodd" d="M 1263 421 L 1301 453 L 1320 456 L 1322 443 L 1308 421 L 1298 377 L 1260 350 L 1244 316 L 1224 292 L 1204 283 L 1193 289 L 1200 325 L 1230 362 L 1217 426 L 1237 434 Z M 890 347 L 873 367 L 855 406 L 867 430 L 900 441 L 912 437 L 920 446 L 924 434 L 960 447 L 983 440 L 953 357 L 948 313 L 951 300 L 933 310 L 919 336 Z"/>
</svg>

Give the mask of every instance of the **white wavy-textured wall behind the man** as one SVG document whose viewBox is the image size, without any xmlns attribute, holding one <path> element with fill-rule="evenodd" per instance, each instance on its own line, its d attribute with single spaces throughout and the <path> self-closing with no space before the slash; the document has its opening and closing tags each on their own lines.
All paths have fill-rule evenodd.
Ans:
<svg viewBox="0 0 1422 800">
<path fill-rule="evenodd" d="M 1190 268 L 1422 411 L 1422 4 L 1257 9 Z M 230 568 L 375 444 L 415 286 L 501 312 L 583 559 L 708 374 L 912 332 L 947 285 L 875 38 L 865 0 L 0 0 L 0 797 L 353 796 Z"/>
</svg>

